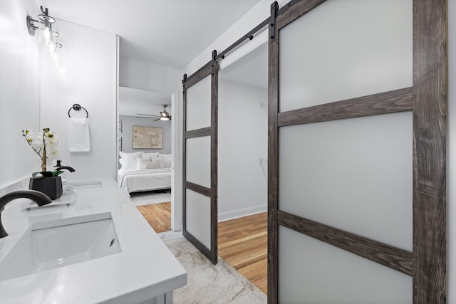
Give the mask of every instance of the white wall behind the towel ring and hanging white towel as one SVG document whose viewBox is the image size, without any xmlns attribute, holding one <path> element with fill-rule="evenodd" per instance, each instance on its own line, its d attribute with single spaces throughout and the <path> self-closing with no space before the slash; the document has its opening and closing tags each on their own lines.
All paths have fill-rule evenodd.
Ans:
<svg viewBox="0 0 456 304">
<path fill-rule="evenodd" d="M 117 36 L 57 20 L 63 48 L 57 61 L 41 58 L 41 126 L 58 133 L 63 165 L 76 169 L 66 179 L 116 176 Z M 78 103 L 88 111 L 90 152 L 68 151 L 68 110 Z M 71 110 L 71 117 L 85 117 Z"/>
</svg>

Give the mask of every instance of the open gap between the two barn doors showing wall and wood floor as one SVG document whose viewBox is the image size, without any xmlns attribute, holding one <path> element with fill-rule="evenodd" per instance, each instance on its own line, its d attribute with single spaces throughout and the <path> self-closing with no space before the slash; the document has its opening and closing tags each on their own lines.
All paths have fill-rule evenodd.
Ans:
<svg viewBox="0 0 456 304">
<path fill-rule="evenodd" d="M 267 294 L 267 43 L 220 63 L 218 254 Z"/>
</svg>

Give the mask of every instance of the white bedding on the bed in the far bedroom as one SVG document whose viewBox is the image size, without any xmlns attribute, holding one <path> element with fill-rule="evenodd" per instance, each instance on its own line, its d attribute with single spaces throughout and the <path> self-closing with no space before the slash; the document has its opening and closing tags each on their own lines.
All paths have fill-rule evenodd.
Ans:
<svg viewBox="0 0 456 304">
<path fill-rule="evenodd" d="M 118 183 L 128 194 L 171 188 L 171 168 L 119 170 Z"/>
</svg>

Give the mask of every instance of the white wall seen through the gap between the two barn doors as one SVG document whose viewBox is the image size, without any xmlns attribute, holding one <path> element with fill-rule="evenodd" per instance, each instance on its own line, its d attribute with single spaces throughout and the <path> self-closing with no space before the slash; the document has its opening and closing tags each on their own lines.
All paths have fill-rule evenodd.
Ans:
<svg viewBox="0 0 456 304">
<path fill-rule="evenodd" d="M 267 90 L 219 79 L 219 221 L 267 210 L 267 100 Z"/>
</svg>

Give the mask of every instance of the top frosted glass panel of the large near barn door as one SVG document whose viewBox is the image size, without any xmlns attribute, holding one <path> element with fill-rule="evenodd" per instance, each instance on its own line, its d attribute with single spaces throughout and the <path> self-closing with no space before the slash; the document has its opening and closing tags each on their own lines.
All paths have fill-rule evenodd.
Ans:
<svg viewBox="0 0 456 304">
<path fill-rule="evenodd" d="M 412 86 L 412 0 L 328 0 L 280 30 L 279 112 Z"/>
</svg>

